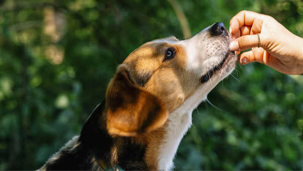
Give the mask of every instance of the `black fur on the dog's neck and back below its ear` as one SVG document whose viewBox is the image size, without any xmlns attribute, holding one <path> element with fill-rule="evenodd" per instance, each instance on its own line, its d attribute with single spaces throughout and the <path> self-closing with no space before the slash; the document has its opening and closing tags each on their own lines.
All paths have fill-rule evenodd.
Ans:
<svg viewBox="0 0 303 171">
<path fill-rule="evenodd" d="M 148 170 L 143 160 L 147 145 L 136 144 L 135 137 L 120 137 L 121 151 L 118 152 L 117 160 L 111 158 L 115 138 L 108 134 L 106 121 L 100 119 L 103 115 L 106 115 L 105 100 L 85 122 L 77 142 L 79 145 L 61 150 L 57 159 L 46 164 L 46 170 L 91 170 L 98 164 L 93 155 L 103 159 L 107 165 L 114 163 L 124 170 Z"/>
</svg>

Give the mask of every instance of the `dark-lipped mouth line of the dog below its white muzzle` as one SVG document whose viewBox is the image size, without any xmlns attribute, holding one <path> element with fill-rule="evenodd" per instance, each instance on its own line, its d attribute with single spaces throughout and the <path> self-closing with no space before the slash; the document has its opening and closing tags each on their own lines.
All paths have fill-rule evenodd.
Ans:
<svg viewBox="0 0 303 171">
<path fill-rule="evenodd" d="M 207 82 L 208 80 L 210 80 L 212 78 L 214 73 L 216 73 L 219 70 L 222 70 L 228 64 L 228 62 L 232 59 L 232 57 L 234 55 L 235 55 L 234 51 L 228 51 L 228 53 L 225 55 L 224 59 L 221 61 L 220 64 L 215 66 L 213 69 L 210 69 L 206 74 L 204 74 L 201 77 L 201 83 Z"/>
</svg>

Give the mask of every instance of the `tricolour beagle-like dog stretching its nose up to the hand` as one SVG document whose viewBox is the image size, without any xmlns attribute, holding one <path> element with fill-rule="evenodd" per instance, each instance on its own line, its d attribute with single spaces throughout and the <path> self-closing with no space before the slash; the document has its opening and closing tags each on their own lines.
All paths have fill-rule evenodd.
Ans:
<svg viewBox="0 0 303 171">
<path fill-rule="evenodd" d="M 39 170 L 171 170 L 191 114 L 235 68 L 215 23 L 192 38 L 146 42 L 118 66 L 106 99 Z"/>
</svg>

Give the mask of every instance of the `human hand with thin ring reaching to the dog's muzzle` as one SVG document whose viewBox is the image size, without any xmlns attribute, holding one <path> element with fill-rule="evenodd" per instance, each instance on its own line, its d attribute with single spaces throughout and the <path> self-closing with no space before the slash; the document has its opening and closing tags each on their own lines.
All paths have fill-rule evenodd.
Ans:
<svg viewBox="0 0 303 171">
<path fill-rule="evenodd" d="M 303 39 L 274 18 L 241 11 L 230 20 L 229 32 L 233 40 L 229 46 L 231 51 L 251 48 L 239 56 L 240 64 L 260 62 L 281 73 L 303 73 Z M 260 48 L 257 33 L 260 35 Z"/>
</svg>

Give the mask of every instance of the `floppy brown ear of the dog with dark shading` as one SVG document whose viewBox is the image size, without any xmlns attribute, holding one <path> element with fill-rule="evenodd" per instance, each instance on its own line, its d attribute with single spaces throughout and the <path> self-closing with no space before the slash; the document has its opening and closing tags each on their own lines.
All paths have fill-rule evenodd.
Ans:
<svg viewBox="0 0 303 171">
<path fill-rule="evenodd" d="M 107 129 L 110 135 L 136 136 L 161 127 L 166 106 L 154 95 L 136 86 L 123 64 L 106 92 Z"/>
</svg>

